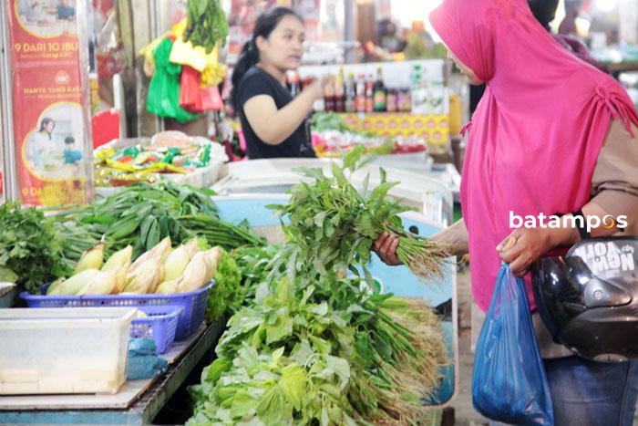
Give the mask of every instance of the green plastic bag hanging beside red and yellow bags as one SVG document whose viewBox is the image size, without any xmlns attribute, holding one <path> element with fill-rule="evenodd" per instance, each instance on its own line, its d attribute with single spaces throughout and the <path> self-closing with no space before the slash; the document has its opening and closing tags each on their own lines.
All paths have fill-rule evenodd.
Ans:
<svg viewBox="0 0 638 426">
<path fill-rule="evenodd" d="M 172 47 L 173 42 L 166 37 L 153 50 L 155 74 L 150 79 L 146 110 L 156 116 L 177 119 L 184 123 L 200 116 L 180 107 L 181 65 L 170 62 Z"/>
</svg>

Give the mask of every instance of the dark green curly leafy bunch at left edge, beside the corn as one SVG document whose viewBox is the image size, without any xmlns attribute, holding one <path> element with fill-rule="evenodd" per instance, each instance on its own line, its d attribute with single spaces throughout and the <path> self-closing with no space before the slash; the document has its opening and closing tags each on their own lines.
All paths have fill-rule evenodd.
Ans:
<svg viewBox="0 0 638 426">
<path fill-rule="evenodd" d="M 19 203 L 0 205 L 1 266 L 13 271 L 17 284 L 31 293 L 66 272 L 53 225 L 41 212 Z"/>
</svg>

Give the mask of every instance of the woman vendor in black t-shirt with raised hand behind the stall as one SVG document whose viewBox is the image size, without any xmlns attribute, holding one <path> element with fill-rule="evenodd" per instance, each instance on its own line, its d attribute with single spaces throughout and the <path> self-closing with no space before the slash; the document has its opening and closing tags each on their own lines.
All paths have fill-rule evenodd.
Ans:
<svg viewBox="0 0 638 426">
<path fill-rule="evenodd" d="M 273 7 L 257 18 L 252 38 L 232 73 L 232 102 L 242 121 L 248 158 L 315 157 L 305 120 L 330 78 L 316 80 L 295 99 L 283 86 L 299 68 L 304 21 L 293 10 Z"/>
</svg>

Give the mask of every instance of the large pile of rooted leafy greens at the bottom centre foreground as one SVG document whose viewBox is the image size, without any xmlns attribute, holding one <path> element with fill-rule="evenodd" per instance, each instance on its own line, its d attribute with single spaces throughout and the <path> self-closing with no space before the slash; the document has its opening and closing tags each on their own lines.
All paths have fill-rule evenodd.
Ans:
<svg viewBox="0 0 638 426">
<path fill-rule="evenodd" d="M 262 283 L 191 389 L 188 424 L 424 421 L 421 398 L 447 363 L 445 343 L 432 333 L 437 317 L 418 302 L 360 286 L 358 279 Z M 406 319 L 407 311 L 417 317 Z"/>
</svg>

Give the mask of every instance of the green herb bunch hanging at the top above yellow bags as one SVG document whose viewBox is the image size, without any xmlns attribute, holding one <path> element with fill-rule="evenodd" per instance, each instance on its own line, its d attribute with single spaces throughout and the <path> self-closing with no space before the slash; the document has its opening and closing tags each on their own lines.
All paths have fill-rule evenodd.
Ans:
<svg viewBox="0 0 638 426">
<path fill-rule="evenodd" d="M 201 46 L 210 53 L 217 42 L 226 45 L 228 22 L 220 0 L 189 0 L 186 9 L 184 41 Z"/>
</svg>

